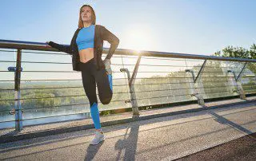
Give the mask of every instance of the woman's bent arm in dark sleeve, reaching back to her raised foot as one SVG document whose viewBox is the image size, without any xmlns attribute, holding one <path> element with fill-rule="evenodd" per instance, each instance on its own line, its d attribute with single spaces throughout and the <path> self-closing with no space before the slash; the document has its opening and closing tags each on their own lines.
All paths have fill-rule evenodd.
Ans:
<svg viewBox="0 0 256 161">
<path fill-rule="evenodd" d="M 109 53 L 106 55 L 106 59 L 110 59 L 115 51 L 118 48 L 119 39 L 113 33 L 111 33 L 108 29 L 102 26 L 103 33 L 102 38 L 110 43 Z"/>
</svg>

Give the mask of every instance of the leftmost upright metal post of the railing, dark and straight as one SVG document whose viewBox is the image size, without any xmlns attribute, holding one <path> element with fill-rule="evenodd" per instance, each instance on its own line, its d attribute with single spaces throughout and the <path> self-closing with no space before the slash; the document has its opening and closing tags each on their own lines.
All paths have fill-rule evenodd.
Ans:
<svg viewBox="0 0 256 161">
<path fill-rule="evenodd" d="M 22 61 L 22 50 L 18 49 L 17 51 L 17 60 L 16 60 L 16 70 L 15 70 L 15 130 L 20 132 L 22 130 L 22 105 L 20 101 L 21 91 L 20 91 L 20 82 L 21 82 L 21 61 Z"/>
</svg>

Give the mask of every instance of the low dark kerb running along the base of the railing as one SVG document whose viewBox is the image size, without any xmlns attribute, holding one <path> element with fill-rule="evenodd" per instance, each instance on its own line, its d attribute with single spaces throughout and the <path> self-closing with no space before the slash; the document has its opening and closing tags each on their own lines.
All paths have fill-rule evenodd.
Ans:
<svg viewBox="0 0 256 161">
<path fill-rule="evenodd" d="M 121 119 L 121 120 L 109 120 L 106 122 L 102 122 L 102 127 L 107 127 L 111 125 L 117 125 L 117 124 L 126 124 L 130 122 L 135 122 L 139 120 L 150 120 L 158 117 L 165 117 L 165 116 L 174 116 L 174 115 L 180 115 L 180 114 L 185 114 L 185 113 L 190 113 L 190 112 L 200 112 L 200 111 L 205 111 L 205 110 L 210 110 L 210 109 L 216 109 L 216 108 L 227 108 L 230 106 L 234 105 L 239 105 L 239 104 L 251 104 L 251 103 L 256 103 L 256 100 L 246 100 L 246 101 L 241 101 L 241 102 L 234 102 L 230 104 L 219 104 L 219 105 L 213 105 L 209 107 L 202 107 L 202 108 L 192 108 L 192 109 L 186 109 L 186 110 L 181 110 L 181 111 L 176 111 L 176 112 L 166 112 L 166 113 L 159 113 L 159 114 L 151 114 L 147 116 L 139 116 L 139 117 L 132 117 L 131 118 L 126 118 L 126 119 Z M 18 140 L 23 140 L 23 139 L 33 139 L 37 137 L 43 137 L 46 135 L 56 135 L 56 134 L 61 134 L 61 133 L 66 133 L 66 132 L 76 132 L 76 131 L 81 131 L 81 130 L 88 130 L 94 128 L 94 124 L 85 124 L 85 125 L 79 125 L 79 126 L 73 126 L 69 128 L 55 128 L 55 129 L 46 129 L 43 131 L 38 131 L 38 132 L 28 132 L 28 133 L 22 133 L 22 134 L 6 134 L 6 135 L 1 135 L 0 136 L 0 143 L 9 143 L 9 142 L 14 142 Z"/>
</svg>

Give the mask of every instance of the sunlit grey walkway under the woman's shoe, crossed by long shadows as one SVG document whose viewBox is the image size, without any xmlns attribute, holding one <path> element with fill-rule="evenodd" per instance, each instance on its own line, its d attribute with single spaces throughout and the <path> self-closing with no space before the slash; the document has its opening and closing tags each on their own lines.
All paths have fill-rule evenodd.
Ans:
<svg viewBox="0 0 256 161">
<path fill-rule="evenodd" d="M 93 129 L 1 143 L 0 159 L 173 160 L 256 132 L 255 118 L 255 102 L 238 104 L 107 126 L 96 146 Z"/>
</svg>

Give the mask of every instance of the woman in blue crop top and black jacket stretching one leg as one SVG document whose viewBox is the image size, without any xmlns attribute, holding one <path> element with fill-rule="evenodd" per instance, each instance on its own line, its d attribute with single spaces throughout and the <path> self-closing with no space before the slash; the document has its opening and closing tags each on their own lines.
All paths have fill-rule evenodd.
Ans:
<svg viewBox="0 0 256 161">
<path fill-rule="evenodd" d="M 98 144 L 105 139 L 99 120 L 96 84 L 102 104 L 109 104 L 113 95 L 110 58 L 119 44 L 118 37 L 104 26 L 95 25 L 95 22 L 94 9 L 89 5 L 83 5 L 79 12 L 78 29 L 70 45 L 59 45 L 53 41 L 46 42 L 47 45 L 61 52 L 70 53 L 73 70 L 82 73 L 82 84 L 90 101 L 90 114 L 96 128 L 96 134 L 90 144 Z M 105 60 L 102 61 L 104 40 L 110 43 L 110 50 Z"/>
</svg>

